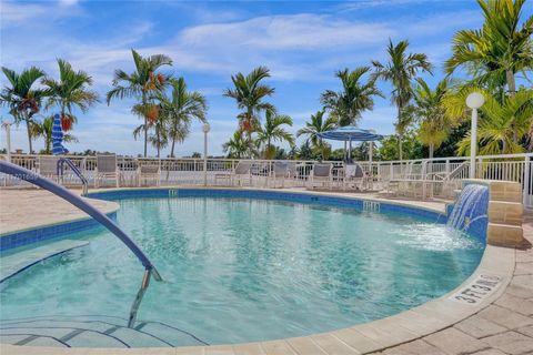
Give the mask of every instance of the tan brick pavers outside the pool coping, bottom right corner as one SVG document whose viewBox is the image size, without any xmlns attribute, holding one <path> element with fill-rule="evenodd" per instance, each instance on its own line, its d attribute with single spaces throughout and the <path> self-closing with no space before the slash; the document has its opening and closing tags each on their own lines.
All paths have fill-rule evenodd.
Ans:
<svg viewBox="0 0 533 355">
<path fill-rule="evenodd" d="M 524 234 L 533 243 L 533 213 L 524 216 Z M 533 248 L 516 250 L 514 276 L 505 293 L 469 318 L 380 355 L 522 355 L 533 354 Z"/>
</svg>

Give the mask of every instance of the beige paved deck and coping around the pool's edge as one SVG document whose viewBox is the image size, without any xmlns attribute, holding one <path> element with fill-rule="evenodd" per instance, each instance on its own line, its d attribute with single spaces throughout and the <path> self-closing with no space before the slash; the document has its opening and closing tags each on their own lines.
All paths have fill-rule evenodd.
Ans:
<svg viewBox="0 0 533 355">
<path fill-rule="evenodd" d="M 303 192 L 298 189 L 275 191 Z M 444 211 L 444 202 L 440 201 L 400 199 L 391 201 L 372 193 L 309 193 L 379 200 Z M 84 215 L 68 203 L 58 205 L 59 197 L 40 190 L 0 190 L 0 233 L 77 220 Z M 98 207 L 103 209 L 103 212 L 117 209 L 114 203 L 92 201 Z M 50 214 L 47 213 L 48 217 L 40 216 L 46 206 L 53 209 Z M 524 215 L 523 229 L 524 236 L 533 242 L 533 213 Z M 490 291 L 482 295 L 480 290 L 485 288 L 481 287 L 489 287 Z M 514 250 L 489 245 L 474 274 L 449 294 L 388 318 L 329 333 L 262 343 L 178 348 L 47 348 L 1 345 L 0 353 L 2 355 L 532 354 L 533 252 L 531 248 Z"/>
</svg>

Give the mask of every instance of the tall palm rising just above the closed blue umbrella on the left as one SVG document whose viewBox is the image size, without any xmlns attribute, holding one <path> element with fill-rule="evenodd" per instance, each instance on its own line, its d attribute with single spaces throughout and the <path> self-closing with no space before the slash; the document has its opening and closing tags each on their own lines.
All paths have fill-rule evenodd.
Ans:
<svg viewBox="0 0 533 355">
<path fill-rule="evenodd" d="M 90 91 L 92 78 L 82 70 L 74 71 L 72 65 L 58 59 L 59 80 L 44 78 L 42 83 L 47 87 L 49 97 L 48 105 L 57 105 L 61 114 L 61 125 L 64 131 L 72 128 L 78 120 L 72 113 L 74 108 L 86 113 L 91 105 L 98 102 L 98 93 Z"/>
</svg>

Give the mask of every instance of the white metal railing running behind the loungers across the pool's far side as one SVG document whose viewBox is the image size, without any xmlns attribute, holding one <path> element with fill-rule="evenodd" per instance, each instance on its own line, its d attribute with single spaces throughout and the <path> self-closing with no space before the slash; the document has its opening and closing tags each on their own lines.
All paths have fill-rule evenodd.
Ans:
<svg viewBox="0 0 533 355">
<path fill-rule="evenodd" d="M 7 160 L 6 155 L 0 155 Z M 68 155 L 74 165 L 83 173 L 90 184 L 94 182 L 97 168 L 95 156 Z M 39 155 L 11 154 L 11 162 L 39 172 Z M 273 171 L 272 160 L 253 160 L 249 184 L 257 187 L 266 187 L 271 182 Z M 286 179 L 284 186 L 303 187 L 308 183 L 314 161 L 291 161 L 296 164 L 295 173 Z M 204 171 L 203 159 L 152 159 L 119 156 L 118 165 L 121 172 L 121 185 L 134 186 L 138 183 L 137 171 L 141 164 L 160 166 L 161 185 L 227 185 L 239 160 L 208 159 Z M 341 181 L 343 173 L 342 162 L 331 162 L 333 181 Z M 436 158 L 432 160 L 410 161 L 374 161 L 359 162 L 368 175 L 372 176 L 374 190 L 384 189 L 394 180 L 421 180 L 433 182 L 429 184 L 431 195 L 451 197 L 453 190 L 459 189 L 462 179 L 469 178 L 469 158 Z M 505 180 L 520 182 L 524 192 L 524 204 L 533 207 L 533 153 L 484 155 L 476 158 L 476 178 L 484 180 Z M 79 184 L 78 178 L 67 169 L 62 183 L 66 185 Z M 0 175 L 3 186 L 23 184 L 18 179 Z"/>
</svg>

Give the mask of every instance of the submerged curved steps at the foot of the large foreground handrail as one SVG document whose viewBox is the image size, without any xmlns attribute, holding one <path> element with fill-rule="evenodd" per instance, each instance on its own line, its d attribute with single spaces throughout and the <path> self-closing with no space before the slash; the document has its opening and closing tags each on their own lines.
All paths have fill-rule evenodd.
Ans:
<svg viewBox="0 0 533 355">
<path fill-rule="evenodd" d="M 48 316 L 2 321 L 0 343 L 54 347 L 167 347 L 205 345 L 194 335 L 159 322 L 134 328 L 113 316 Z"/>
</svg>

